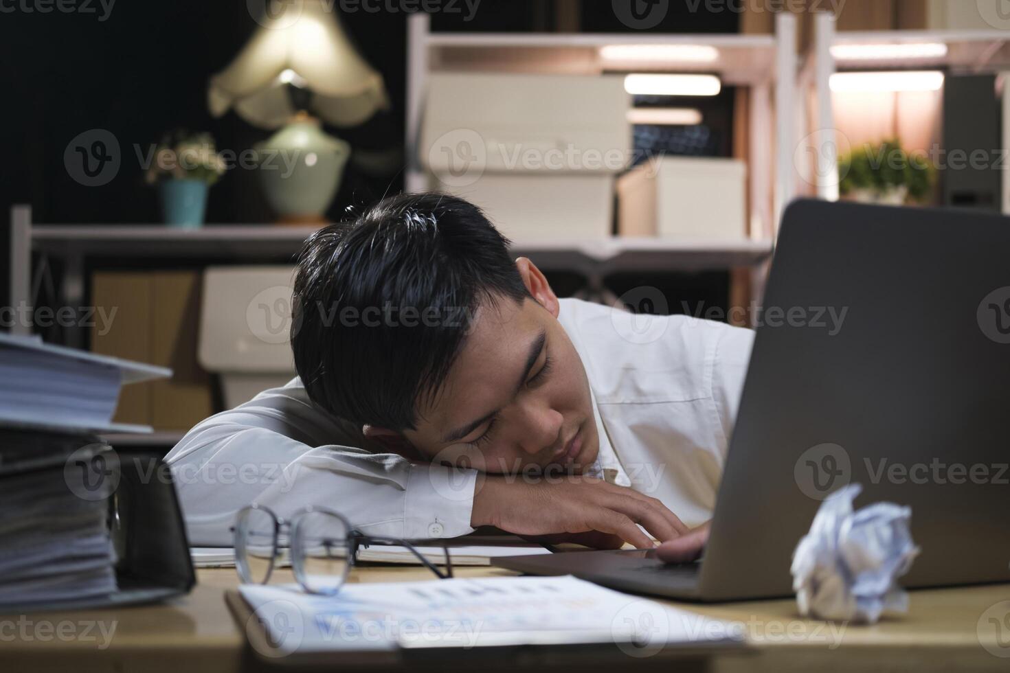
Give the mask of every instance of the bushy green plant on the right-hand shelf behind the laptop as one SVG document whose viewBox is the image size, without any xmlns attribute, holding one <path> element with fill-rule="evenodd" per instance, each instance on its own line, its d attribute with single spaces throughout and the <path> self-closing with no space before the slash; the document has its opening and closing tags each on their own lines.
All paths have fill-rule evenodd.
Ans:
<svg viewBox="0 0 1010 673">
<path fill-rule="evenodd" d="M 933 165 L 924 155 L 910 154 L 897 138 L 866 143 L 838 159 L 841 196 L 864 203 L 901 206 L 929 199 Z"/>
</svg>

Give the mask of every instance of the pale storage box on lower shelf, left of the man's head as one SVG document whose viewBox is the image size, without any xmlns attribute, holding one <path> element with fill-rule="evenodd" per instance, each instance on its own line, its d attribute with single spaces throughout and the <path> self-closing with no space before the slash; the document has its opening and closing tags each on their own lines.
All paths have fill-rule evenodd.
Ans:
<svg viewBox="0 0 1010 673">
<path fill-rule="evenodd" d="M 208 266 L 204 271 L 199 360 L 220 374 L 228 409 L 295 376 L 290 344 L 294 271 L 293 266 Z"/>
</svg>

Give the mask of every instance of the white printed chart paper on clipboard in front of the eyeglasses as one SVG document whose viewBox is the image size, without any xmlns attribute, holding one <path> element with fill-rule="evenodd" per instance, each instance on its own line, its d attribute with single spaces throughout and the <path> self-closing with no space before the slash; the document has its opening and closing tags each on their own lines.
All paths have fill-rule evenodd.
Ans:
<svg viewBox="0 0 1010 673">
<path fill-rule="evenodd" d="M 589 643 L 641 653 L 742 642 L 731 623 L 571 575 L 345 584 L 335 596 L 293 584 L 239 590 L 267 632 L 271 656 Z"/>
</svg>

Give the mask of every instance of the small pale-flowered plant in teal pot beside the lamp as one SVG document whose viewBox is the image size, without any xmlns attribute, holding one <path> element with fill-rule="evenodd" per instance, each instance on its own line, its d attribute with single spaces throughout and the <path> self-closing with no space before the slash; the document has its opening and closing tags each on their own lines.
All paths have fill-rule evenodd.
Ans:
<svg viewBox="0 0 1010 673">
<path fill-rule="evenodd" d="M 165 223 L 184 228 L 202 225 L 207 191 L 224 169 L 210 133 L 180 129 L 166 134 L 144 176 L 147 184 L 158 184 Z"/>
</svg>

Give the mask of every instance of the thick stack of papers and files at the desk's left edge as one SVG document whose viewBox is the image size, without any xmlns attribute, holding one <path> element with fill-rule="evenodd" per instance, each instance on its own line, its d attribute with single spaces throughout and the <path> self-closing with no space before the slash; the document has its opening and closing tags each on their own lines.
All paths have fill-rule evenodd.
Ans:
<svg viewBox="0 0 1010 673">
<path fill-rule="evenodd" d="M 171 369 L 0 334 L 0 607 L 116 590 L 112 423 L 123 383 Z"/>
</svg>

